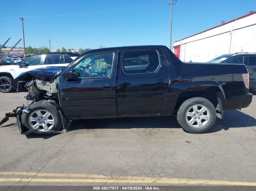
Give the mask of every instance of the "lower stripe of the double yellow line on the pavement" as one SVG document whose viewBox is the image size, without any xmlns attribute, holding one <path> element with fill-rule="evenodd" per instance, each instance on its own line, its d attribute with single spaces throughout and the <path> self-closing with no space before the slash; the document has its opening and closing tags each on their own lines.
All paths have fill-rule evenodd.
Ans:
<svg viewBox="0 0 256 191">
<path fill-rule="evenodd" d="M 203 184 L 203 185 L 235 185 L 235 186 L 256 186 L 253 182 L 228 182 L 217 180 L 186 180 L 186 179 L 148 179 L 148 180 L 118 180 L 118 179 L 45 179 L 45 178 L 0 178 L 0 182 L 75 182 L 75 183 L 164 183 L 164 184 Z"/>
</svg>

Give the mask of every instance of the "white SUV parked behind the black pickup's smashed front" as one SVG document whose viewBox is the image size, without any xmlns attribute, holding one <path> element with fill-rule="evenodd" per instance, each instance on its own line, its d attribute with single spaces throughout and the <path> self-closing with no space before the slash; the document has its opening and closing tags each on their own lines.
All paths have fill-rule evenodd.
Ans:
<svg viewBox="0 0 256 191">
<path fill-rule="evenodd" d="M 18 62 L 16 65 L 2 66 L 0 67 L 0 91 L 3 93 L 11 92 L 12 80 L 23 72 L 27 72 L 35 68 L 41 68 L 42 66 L 67 66 L 78 55 L 79 54 L 73 53 L 37 54 L 35 56 L 30 56 L 27 59 L 22 60 L 21 62 Z M 5 85 L 4 82 L 8 82 L 8 84 Z"/>
</svg>

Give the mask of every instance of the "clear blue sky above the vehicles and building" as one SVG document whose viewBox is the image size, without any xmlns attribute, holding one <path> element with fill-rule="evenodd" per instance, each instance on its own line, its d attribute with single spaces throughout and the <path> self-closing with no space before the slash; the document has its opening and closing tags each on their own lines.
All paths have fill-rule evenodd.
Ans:
<svg viewBox="0 0 256 191">
<path fill-rule="evenodd" d="M 255 0 L 178 0 L 173 5 L 172 44 L 256 11 Z M 55 16 L 65 15 L 65 16 Z M 1 1 L 0 44 L 96 49 L 99 45 L 165 45 L 170 42 L 170 5 L 165 0 Z M 21 41 L 17 47 L 23 47 Z"/>
</svg>

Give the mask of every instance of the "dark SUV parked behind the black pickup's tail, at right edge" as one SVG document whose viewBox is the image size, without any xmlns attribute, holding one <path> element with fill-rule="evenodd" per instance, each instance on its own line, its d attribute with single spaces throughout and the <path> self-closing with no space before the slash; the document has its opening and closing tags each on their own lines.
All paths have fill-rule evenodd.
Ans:
<svg viewBox="0 0 256 191">
<path fill-rule="evenodd" d="M 208 63 L 244 64 L 249 72 L 249 89 L 256 89 L 256 53 L 224 54 Z"/>
</svg>

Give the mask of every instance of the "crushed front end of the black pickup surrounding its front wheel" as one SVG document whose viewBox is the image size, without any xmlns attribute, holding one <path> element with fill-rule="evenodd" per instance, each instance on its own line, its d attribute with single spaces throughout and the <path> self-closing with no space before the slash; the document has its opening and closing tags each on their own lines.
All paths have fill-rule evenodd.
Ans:
<svg viewBox="0 0 256 191">
<path fill-rule="evenodd" d="M 0 126 L 3 123 L 7 122 L 9 120 L 9 117 L 16 117 L 17 125 L 22 135 L 27 135 L 32 132 L 40 134 L 56 134 L 66 132 L 71 125 L 71 121 L 65 117 L 61 110 L 61 107 L 58 104 L 58 75 L 52 77 L 50 81 L 42 80 L 42 76 L 36 76 L 36 78 L 39 79 L 28 81 L 25 84 L 25 88 L 28 90 L 28 94 L 27 96 L 25 96 L 27 100 L 27 105 L 22 104 L 22 106 L 14 109 L 12 113 L 6 113 L 5 118 L 2 119 L 2 121 L 0 122 Z M 28 104 L 29 100 L 32 102 Z M 56 131 L 42 131 L 37 126 L 27 128 L 24 124 L 22 124 L 22 113 L 32 113 L 30 106 L 32 106 L 33 103 L 37 102 L 47 102 L 47 104 L 49 103 L 57 108 L 62 123 L 61 129 L 58 129 Z"/>
</svg>

